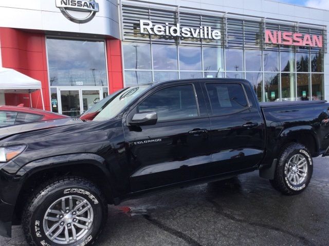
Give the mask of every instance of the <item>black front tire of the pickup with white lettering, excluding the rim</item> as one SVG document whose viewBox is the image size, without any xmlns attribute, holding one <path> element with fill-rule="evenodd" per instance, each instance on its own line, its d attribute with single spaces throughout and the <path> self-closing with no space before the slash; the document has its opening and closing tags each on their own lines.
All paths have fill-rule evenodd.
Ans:
<svg viewBox="0 0 329 246">
<path fill-rule="evenodd" d="M 51 204 L 67 195 L 82 197 L 93 209 L 90 231 L 76 242 L 59 244 L 45 234 L 44 216 Z M 78 203 L 79 204 L 79 203 Z M 23 211 L 22 226 L 29 245 L 33 246 L 85 246 L 92 245 L 99 237 L 107 220 L 107 202 L 100 189 L 87 179 L 61 177 L 43 183 L 29 200 Z"/>
</svg>

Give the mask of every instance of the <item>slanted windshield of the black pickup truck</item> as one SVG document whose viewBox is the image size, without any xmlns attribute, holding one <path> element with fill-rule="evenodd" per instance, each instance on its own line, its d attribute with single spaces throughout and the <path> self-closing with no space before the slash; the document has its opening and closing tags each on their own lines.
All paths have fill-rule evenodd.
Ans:
<svg viewBox="0 0 329 246">
<path fill-rule="evenodd" d="M 99 101 L 99 103 L 92 108 L 88 109 L 80 116 L 80 119 L 95 121 L 112 119 L 149 87 L 150 85 L 143 85 L 128 87 L 117 91 Z"/>
</svg>

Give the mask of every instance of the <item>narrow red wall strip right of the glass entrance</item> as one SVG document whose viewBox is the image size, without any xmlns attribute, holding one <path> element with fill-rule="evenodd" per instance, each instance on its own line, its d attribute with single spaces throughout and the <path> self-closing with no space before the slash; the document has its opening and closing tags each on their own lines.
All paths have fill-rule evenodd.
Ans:
<svg viewBox="0 0 329 246">
<path fill-rule="evenodd" d="M 109 93 L 123 88 L 122 51 L 120 39 L 106 39 Z"/>
</svg>

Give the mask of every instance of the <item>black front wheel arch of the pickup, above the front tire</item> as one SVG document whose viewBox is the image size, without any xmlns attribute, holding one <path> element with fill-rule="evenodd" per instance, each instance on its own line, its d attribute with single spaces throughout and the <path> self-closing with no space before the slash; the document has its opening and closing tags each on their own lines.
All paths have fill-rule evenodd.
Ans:
<svg viewBox="0 0 329 246">
<path fill-rule="evenodd" d="M 28 163 L 22 187 L 15 203 L 13 222 L 21 220 L 23 208 L 28 197 L 38 190 L 40 184 L 54 177 L 78 176 L 88 179 L 104 194 L 107 203 L 114 203 L 114 192 L 111 185 L 111 173 L 105 168 L 104 159 L 95 154 L 79 154 L 79 156 L 56 156 Z"/>
</svg>

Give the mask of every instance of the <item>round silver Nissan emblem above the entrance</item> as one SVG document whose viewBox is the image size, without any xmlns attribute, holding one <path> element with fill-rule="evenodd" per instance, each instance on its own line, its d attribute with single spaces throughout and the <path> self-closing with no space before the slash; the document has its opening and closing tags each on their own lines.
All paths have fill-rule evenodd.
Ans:
<svg viewBox="0 0 329 246">
<path fill-rule="evenodd" d="M 87 23 L 99 11 L 95 0 L 56 0 L 56 7 L 66 18 L 75 23 Z"/>
</svg>

